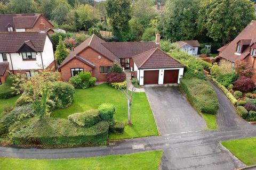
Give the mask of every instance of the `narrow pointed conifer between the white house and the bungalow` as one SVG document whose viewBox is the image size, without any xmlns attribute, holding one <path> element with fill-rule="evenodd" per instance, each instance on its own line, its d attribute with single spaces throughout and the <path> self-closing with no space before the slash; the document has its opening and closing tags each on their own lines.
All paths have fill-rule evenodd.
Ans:
<svg viewBox="0 0 256 170">
<path fill-rule="evenodd" d="M 61 64 L 63 60 L 68 56 L 68 49 L 62 41 L 62 37 L 59 36 L 59 44 L 57 45 L 55 57 L 58 61 L 58 64 Z"/>
</svg>

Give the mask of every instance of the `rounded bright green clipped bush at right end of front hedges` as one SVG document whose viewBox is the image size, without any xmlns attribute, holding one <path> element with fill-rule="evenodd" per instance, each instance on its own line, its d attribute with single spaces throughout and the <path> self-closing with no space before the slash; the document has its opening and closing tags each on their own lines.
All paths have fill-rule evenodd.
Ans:
<svg viewBox="0 0 256 170">
<path fill-rule="evenodd" d="M 100 114 L 100 118 L 102 120 L 109 120 L 110 118 L 113 118 L 113 115 L 115 114 L 116 108 L 113 104 L 109 104 L 109 103 L 104 103 L 101 104 L 98 107 L 98 111 Z"/>
</svg>

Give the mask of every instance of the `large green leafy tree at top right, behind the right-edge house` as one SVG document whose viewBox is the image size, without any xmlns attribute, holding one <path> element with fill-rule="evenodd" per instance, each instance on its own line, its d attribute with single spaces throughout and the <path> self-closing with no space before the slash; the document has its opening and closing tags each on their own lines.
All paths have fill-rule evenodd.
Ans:
<svg viewBox="0 0 256 170">
<path fill-rule="evenodd" d="M 203 0 L 199 6 L 199 30 L 222 44 L 234 39 L 253 19 L 254 5 L 249 0 Z"/>
</svg>

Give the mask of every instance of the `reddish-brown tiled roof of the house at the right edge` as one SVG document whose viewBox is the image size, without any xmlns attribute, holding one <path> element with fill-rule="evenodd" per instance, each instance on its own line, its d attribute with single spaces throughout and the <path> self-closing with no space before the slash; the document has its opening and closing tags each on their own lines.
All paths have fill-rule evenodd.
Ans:
<svg viewBox="0 0 256 170">
<path fill-rule="evenodd" d="M 231 41 L 231 43 L 220 53 L 220 57 L 225 58 L 231 62 L 243 60 L 245 57 L 250 55 L 250 46 L 243 49 L 241 54 L 236 53 L 237 43 L 242 39 L 251 39 L 251 44 L 256 41 L 256 21 L 252 21 L 245 29 L 239 33 L 239 35 Z"/>
</svg>

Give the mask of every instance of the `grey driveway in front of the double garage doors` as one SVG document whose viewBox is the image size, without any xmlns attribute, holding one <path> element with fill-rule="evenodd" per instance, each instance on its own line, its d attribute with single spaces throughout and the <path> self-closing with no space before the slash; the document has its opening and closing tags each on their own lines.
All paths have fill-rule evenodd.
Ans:
<svg viewBox="0 0 256 170">
<path fill-rule="evenodd" d="M 162 135 L 201 131 L 204 119 L 189 104 L 178 87 L 145 86 L 145 92 Z"/>
</svg>

